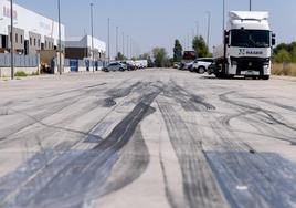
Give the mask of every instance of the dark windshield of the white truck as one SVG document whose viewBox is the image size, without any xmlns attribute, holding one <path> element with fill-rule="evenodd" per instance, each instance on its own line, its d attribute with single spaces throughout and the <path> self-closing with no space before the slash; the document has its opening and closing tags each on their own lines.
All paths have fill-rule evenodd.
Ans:
<svg viewBox="0 0 296 208">
<path fill-rule="evenodd" d="M 267 30 L 232 30 L 231 45 L 244 48 L 271 46 L 271 32 Z"/>
</svg>

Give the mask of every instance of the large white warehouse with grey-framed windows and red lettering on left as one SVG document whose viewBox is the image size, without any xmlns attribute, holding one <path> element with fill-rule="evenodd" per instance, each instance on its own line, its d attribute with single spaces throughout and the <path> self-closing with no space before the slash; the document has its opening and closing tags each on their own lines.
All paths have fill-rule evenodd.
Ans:
<svg viewBox="0 0 296 208">
<path fill-rule="evenodd" d="M 0 49 L 1 53 L 10 51 L 10 1 L 0 0 Z M 19 54 L 35 54 L 39 50 L 59 48 L 59 22 L 13 4 L 14 51 Z M 65 29 L 61 25 L 62 42 Z M 63 46 L 63 45 L 62 45 Z"/>
</svg>

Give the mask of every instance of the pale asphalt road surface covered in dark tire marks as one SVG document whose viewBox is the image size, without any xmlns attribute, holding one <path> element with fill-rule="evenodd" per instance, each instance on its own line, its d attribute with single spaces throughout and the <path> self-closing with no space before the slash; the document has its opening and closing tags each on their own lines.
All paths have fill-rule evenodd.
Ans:
<svg viewBox="0 0 296 208">
<path fill-rule="evenodd" d="M 296 207 L 296 79 L 0 81 L 0 207 Z"/>
</svg>

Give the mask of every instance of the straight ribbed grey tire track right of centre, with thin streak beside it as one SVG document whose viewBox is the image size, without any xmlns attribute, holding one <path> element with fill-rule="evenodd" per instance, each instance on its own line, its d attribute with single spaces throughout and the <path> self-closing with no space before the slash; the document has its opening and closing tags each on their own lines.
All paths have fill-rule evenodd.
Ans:
<svg viewBox="0 0 296 208">
<path fill-rule="evenodd" d="M 197 205 L 224 207 L 224 199 L 201 150 L 201 143 L 195 142 L 182 118 L 170 105 L 157 103 L 181 167 L 183 191 L 188 204 L 183 207 L 197 207 Z M 166 173 L 163 177 L 166 183 Z M 166 194 L 171 207 L 177 208 L 175 196 L 168 185 L 166 185 Z"/>
</svg>

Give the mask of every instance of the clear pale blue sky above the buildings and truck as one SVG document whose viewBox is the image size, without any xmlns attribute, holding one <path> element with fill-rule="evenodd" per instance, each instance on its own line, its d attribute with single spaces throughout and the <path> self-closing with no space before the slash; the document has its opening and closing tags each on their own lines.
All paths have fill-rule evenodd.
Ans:
<svg viewBox="0 0 296 208">
<path fill-rule="evenodd" d="M 57 0 L 14 0 L 27 9 L 57 20 Z M 127 35 L 131 38 L 133 54 L 150 52 L 163 46 L 172 55 L 173 42 L 183 48 L 193 34 L 207 39 L 208 11 L 211 13 L 210 48 L 222 42 L 222 0 L 61 0 L 62 22 L 66 37 L 91 34 L 91 3 L 94 3 L 94 37 L 107 42 L 110 19 L 110 54 L 118 49 L 125 54 Z M 226 11 L 249 10 L 249 0 L 225 0 Z M 296 0 L 252 0 L 252 9 L 269 11 L 272 30 L 277 43 L 296 41 Z M 197 27 L 199 25 L 199 27 Z M 130 44 L 129 44 L 130 45 Z"/>
</svg>

